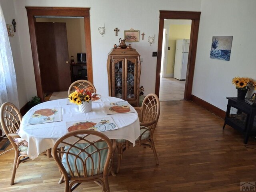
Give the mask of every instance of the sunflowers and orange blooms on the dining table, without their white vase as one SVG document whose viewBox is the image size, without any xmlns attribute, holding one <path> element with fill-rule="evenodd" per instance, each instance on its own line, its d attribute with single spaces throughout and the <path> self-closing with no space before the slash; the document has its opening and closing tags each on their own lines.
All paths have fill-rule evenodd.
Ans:
<svg viewBox="0 0 256 192">
<path fill-rule="evenodd" d="M 89 102 L 92 99 L 92 93 L 89 88 L 80 89 L 76 86 L 74 86 L 76 89 L 74 92 L 70 93 L 68 96 L 68 100 L 71 103 L 80 105 L 83 102 Z"/>
</svg>

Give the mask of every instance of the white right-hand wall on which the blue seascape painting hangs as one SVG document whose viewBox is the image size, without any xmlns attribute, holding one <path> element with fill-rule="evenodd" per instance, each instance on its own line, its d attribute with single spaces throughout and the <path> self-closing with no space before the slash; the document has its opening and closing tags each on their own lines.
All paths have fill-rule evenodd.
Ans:
<svg viewBox="0 0 256 192">
<path fill-rule="evenodd" d="M 192 94 L 224 111 L 237 96 L 232 78 L 256 80 L 255 8 L 255 0 L 202 1 Z M 230 61 L 210 59 L 212 36 L 233 36 Z"/>
</svg>

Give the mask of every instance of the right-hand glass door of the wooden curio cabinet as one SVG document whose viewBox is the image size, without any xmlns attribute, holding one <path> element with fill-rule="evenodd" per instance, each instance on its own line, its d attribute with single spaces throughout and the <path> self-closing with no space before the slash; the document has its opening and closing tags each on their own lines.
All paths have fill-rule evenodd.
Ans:
<svg viewBox="0 0 256 192">
<path fill-rule="evenodd" d="M 137 60 L 127 59 L 126 60 L 126 92 L 125 99 L 134 99 L 136 98 L 136 62 Z"/>
</svg>

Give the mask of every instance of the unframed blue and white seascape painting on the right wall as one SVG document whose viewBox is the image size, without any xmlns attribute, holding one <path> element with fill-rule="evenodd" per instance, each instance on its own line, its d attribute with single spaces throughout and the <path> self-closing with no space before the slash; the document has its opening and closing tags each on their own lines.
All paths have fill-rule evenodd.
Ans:
<svg viewBox="0 0 256 192">
<path fill-rule="evenodd" d="M 233 36 L 213 36 L 210 58 L 229 61 Z"/>
</svg>

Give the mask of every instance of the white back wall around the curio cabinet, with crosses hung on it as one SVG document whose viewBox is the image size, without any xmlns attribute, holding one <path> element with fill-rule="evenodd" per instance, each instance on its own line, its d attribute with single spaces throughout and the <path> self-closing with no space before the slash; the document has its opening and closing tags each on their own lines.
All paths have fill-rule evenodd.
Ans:
<svg viewBox="0 0 256 192">
<path fill-rule="evenodd" d="M 6 0 L 0 0 L 4 2 Z M 128 4 L 127 4 L 128 3 Z M 140 85 L 144 86 L 144 94 L 154 92 L 156 76 L 156 57 L 152 52 L 157 51 L 159 10 L 200 11 L 201 0 L 14 0 L 16 9 L 17 30 L 20 35 L 20 47 L 22 67 L 25 80 L 21 82 L 20 106 L 24 106 L 28 100 L 36 95 L 36 83 L 32 62 L 30 36 L 28 31 L 28 19 L 25 6 L 56 6 L 56 7 L 89 7 L 90 26 L 92 37 L 92 62 L 94 85 L 98 92 L 108 95 L 108 78 L 106 71 L 107 55 L 114 44 L 118 44 L 119 38 L 124 38 L 124 30 L 133 28 L 144 32 L 144 40 L 140 36 L 140 42 L 133 42 L 135 48 L 143 58 Z M 14 8 L 5 7 L 7 12 Z M 101 37 L 98 27 L 105 24 L 106 34 Z M 120 32 L 115 36 L 114 28 Z M 155 36 L 155 42 L 150 46 L 148 36 Z M 24 98 L 26 97 L 26 98 Z"/>
</svg>

